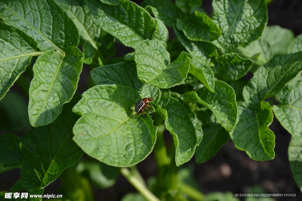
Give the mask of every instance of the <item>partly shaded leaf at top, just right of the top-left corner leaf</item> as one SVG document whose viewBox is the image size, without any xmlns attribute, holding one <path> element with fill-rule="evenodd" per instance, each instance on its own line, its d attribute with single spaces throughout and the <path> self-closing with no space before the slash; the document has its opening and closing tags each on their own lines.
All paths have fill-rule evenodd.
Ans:
<svg viewBox="0 0 302 201">
<path fill-rule="evenodd" d="M 68 5 L 66 13 L 79 30 L 80 38 L 88 42 L 104 57 L 115 54 L 114 37 L 101 30 L 92 19 L 84 0 L 62 0 Z"/>
</svg>

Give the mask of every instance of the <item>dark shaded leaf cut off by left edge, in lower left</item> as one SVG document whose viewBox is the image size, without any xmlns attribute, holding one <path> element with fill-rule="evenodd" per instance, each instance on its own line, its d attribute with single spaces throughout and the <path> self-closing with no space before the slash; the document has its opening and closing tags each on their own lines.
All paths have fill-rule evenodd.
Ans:
<svg viewBox="0 0 302 201">
<path fill-rule="evenodd" d="M 21 168 L 21 140 L 14 134 L 0 135 L 0 173 Z"/>
</svg>

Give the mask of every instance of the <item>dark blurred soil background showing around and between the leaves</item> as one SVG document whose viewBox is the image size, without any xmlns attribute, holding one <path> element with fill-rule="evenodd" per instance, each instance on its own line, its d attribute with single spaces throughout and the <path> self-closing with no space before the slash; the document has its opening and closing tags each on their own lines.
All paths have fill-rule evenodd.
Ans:
<svg viewBox="0 0 302 201">
<path fill-rule="evenodd" d="M 140 3 L 141 1 L 135 1 Z M 212 14 L 213 8 L 211 0 L 203 0 L 202 7 L 207 11 L 207 14 Z M 302 0 L 275 0 L 268 5 L 268 25 L 279 25 L 283 28 L 293 30 L 297 36 L 302 33 Z M 175 37 L 172 30 L 170 31 L 170 39 Z M 121 56 L 132 52 L 133 49 L 121 45 L 116 45 L 117 54 Z M 79 81 L 78 93 L 86 90 L 88 84 L 88 66 L 83 67 L 83 71 Z M 22 94 L 19 87 L 15 84 L 11 91 Z M 22 94 L 22 96 L 24 96 Z M 24 96 L 26 99 L 26 97 Z M 28 99 L 27 99 L 28 101 Z M 3 113 L 0 109 L 0 121 Z M 3 123 L 3 122 L 2 122 Z M 220 151 L 210 161 L 203 164 L 196 164 L 194 157 L 183 167 L 189 167 L 191 174 L 195 178 L 197 186 L 203 193 L 212 191 L 233 193 L 249 192 L 252 187 L 260 186 L 266 192 L 271 193 L 299 193 L 299 198 L 279 198 L 276 200 L 282 201 L 297 201 L 302 200 L 302 193 L 295 183 L 288 162 L 287 149 L 291 139 L 291 134 L 288 133 L 274 118 L 273 123 L 269 127 L 276 136 L 275 139 L 275 159 L 271 161 L 258 162 L 254 161 L 246 155 L 245 152 L 235 148 L 231 140 L 224 145 Z M 3 133 L 0 131 L 0 133 Z M 15 133 L 18 136 L 26 133 L 26 131 Z M 171 135 L 165 133 L 167 144 L 171 141 Z M 138 164 L 138 169 L 145 180 L 155 176 L 157 173 L 156 163 L 153 154 L 151 153 L 143 162 Z M 8 191 L 8 189 L 20 177 L 20 169 L 14 169 L 0 174 L 0 191 Z M 44 194 L 59 194 L 57 189 L 61 186 L 60 180 L 57 179 L 48 185 Z M 132 185 L 123 177 L 119 176 L 113 187 L 106 190 L 93 189 L 96 200 L 120 200 L 129 192 L 136 192 Z M 243 200 L 243 199 L 242 199 Z"/>
</svg>

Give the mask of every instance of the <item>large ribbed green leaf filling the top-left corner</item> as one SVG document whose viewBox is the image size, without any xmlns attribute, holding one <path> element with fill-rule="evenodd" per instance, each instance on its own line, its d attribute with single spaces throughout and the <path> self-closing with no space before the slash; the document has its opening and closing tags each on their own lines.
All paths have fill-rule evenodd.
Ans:
<svg viewBox="0 0 302 201">
<path fill-rule="evenodd" d="M 3 0 L 0 17 L 18 27 L 38 42 L 41 51 L 62 52 L 68 46 L 78 46 L 79 31 L 66 12 L 54 0 Z"/>
</svg>

